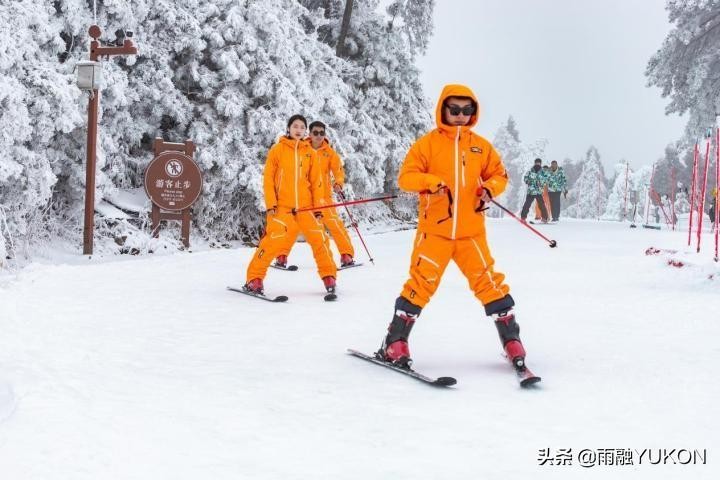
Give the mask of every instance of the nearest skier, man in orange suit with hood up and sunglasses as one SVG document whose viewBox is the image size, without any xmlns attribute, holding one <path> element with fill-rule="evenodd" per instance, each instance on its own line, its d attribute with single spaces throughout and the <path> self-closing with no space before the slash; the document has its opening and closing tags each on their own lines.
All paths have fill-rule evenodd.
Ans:
<svg viewBox="0 0 720 480">
<path fill-rule="evenodd" d="M 410 278 L 395 301 L 376 355 L 401 367 L 412 362 L 410 331 L 451 259 L 495 321 L 508 358 L 518 368 L 524 365 L 515 302 L 505 276 L 493 268 L 483 212 L 483 206 L 505 190 L 508 176 L 492 144 L 470 130 L 477 119 L 473 92 L 463 85 L 445 86 L 436 108 L 437 128 L 410 147 L 400 169 L 400 188 L 420 194 L 419 223 Z"/>
</svg>

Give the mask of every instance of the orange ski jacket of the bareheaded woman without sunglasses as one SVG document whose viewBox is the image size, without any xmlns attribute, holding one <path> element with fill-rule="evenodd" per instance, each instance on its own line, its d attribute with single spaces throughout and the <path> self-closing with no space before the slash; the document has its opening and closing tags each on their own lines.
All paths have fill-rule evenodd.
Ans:
<svg viewBox="0 0 720 480">
<path fill-rule="evenodd" d="M 322 205 L 323 181 L 310 143 L 280 137 L 268 152 L 263 190 L 268 210 Z"/>
</svg>

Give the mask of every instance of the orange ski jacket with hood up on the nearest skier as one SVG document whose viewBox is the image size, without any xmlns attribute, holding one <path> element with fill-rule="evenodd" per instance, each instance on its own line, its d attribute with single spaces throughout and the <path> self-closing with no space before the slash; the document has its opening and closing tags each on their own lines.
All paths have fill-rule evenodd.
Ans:
<svg viewBox="0 0 720 480">
<path fill-rule="evenodd" d="M 448 97 L 469 97 L 475 114 L 464 126 L 443 122 L 443 102 Z M 400 188 L 420 193 L 418 231 L 456 239 L 485 230 L 485 215 L 476 212 L 478 190 L 495 198 L 507 186 L 508 176 L 500 155 L 485 138 L 471 131 L 479 106 L 464 85 L 446 85 L 435 110 L 437 128 L 417 140 L 400 168 Z M 447 187 L 441 190 L 441 187 Z M 449 192 L 449 194 L 448 194 Z"/>
</svg>

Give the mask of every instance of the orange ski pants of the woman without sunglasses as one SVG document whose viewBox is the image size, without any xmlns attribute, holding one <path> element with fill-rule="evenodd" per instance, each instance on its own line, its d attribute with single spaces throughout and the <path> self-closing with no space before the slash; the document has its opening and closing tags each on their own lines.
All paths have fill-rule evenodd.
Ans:
<svg viewBox="0 0 720 480">
<path fill-rule="evenodd" d="M 337 266 L 332 259 L 330 241 L 323 224 L 310 211 L 293 215 L 289 209 L 279 208 L 278 213 L 267 216 L 265 235 L 250 261 L 247 280 L 264 279 L 270 263 L 287 244 L 289 238 L 295 241 L 298 232 L 302 232 L 312 248 L 320 278 L 336 276 Z"/>
</svg>

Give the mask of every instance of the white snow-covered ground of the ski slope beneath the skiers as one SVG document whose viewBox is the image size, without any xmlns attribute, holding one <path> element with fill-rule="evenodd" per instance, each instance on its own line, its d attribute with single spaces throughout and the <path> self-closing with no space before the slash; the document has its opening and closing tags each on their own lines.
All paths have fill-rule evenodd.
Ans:
<svg viewBox="0 0 720 480">
<path fill-rule="evenodd" d="M 720 478 L 710 236 L 695 255 L 686 233 L 563 221 L 538 227 L 550 249 L 511 219 L 488 223 L 534 390 L 454 265 L 411 348 L 456 387 L 345 353 L 379 345 L 414 231 L 368 236 L 376 266 L 341 272 L 336 303 L 305 244 L 299 271 L 266 279 L 287 304 L 225 290 L 244 280 L 245 248 L 25 268 L 0 287 L 0 478 Z M 541 465 L 545 449 L 572 449 L 572 465 Z M 631 450 L 634 465 L 583 467 L 583 449 Z M 638 464 L 644 449 L 706 464 Z"/>
</svg>

